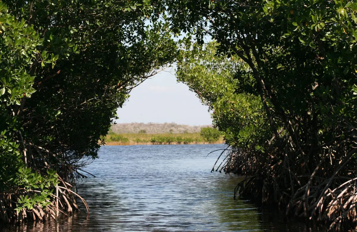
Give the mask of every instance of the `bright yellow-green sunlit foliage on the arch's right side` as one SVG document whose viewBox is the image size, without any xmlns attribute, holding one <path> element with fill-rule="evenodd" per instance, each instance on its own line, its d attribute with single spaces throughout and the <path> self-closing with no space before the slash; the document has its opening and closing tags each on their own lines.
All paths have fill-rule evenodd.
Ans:
<svg viewBox="0 0 357 232">
<path fill-rule="evenodd" d="M 257 142 L 267 130 L 251 70 L 235 55 L 217 54 L 217 46 L 193 44 L 181 51 L 177 79 L 210 107 L 213 123 L 227 143 L 242 145 L 253 138 Z"/>
</svg>

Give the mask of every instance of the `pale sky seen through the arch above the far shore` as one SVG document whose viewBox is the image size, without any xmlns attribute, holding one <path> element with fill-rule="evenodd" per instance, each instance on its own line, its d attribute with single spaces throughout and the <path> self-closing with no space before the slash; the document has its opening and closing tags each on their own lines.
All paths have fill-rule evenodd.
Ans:
<svg viewBox="0 0 357 232">
<path fill-rule="evenodd" d="M 172 68 L 161 71 L 135 87 L 117 114 L 117 123 L 212 124 L 208 106 L 203 106 L 185 84 L 176 81 Z"/>
</svg>

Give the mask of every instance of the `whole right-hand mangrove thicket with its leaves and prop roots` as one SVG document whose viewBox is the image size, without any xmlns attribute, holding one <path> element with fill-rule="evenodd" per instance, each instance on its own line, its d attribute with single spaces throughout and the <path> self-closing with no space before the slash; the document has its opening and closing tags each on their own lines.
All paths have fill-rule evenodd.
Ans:
<svg viewBox="0 0 357 232">
<path fill-rule="evenodd" d="M 246 176 L 236 195 L 287 217 L 356 227 L 357 3 L 238 2 L 168 7 L 198 38 L 181 51 L 177 78 L 230 145 L 213 170 Z"/>
</svg>

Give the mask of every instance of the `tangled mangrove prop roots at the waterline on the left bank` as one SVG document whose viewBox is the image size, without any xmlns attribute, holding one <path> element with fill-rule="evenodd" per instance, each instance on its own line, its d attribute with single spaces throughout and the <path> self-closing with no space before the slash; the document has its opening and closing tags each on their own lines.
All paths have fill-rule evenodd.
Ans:
<svg viewBox="0 0 357 232">
<path fill-rule="evenodd" d="M 52 152 L 45 147 L 24 141 L 26 139 L 25 137 L 20 137 L 21 141 L 17 142 L 22 144 L 22 156 L 26 166 L 31 168 L 32 172 L 37 172 L 42 176 L 46 176 L 50 168 L 56 170 L 59 183 L 48 188 L 48 190 L 53 190 L 53 192 L 49 195 L 49 200 L 46 200 L 48 204 L 46 206 L 39 203 L 32 205 L 30 208 L 18 208 L 20 206 L 20 197 L 30 198 L 35 194 L 39 195 L 41 194 L 39 188 L 26 191 L 23 187 L 16 187 L 7 192 L 0 192 L 0 224 L 24 221 L 46 221 L 51 219 L 57 220 L 60 213 L 70 215 L 74 210 L 79 210 L 79 206 L 75 200 L 76 197 L 81 199 L 89 213 L 89 207 L 86 201 L 75 191 L 75 183 L 78 178 L 86 177 L 79 171 L 92 175 L 83 170 L 83 168 L 91 162 L 91 158 L 87 158 L 86 160 L 85 158 L 65 154 L 59 150 Z M 18 208 L 18 210 L 16 210 L 16 208 Z"/>
</svg>

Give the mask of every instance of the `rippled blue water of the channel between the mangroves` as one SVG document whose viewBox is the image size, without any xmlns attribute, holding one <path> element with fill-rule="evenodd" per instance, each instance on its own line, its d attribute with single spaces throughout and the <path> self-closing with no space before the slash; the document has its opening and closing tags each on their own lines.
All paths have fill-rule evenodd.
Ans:
<svg viewBox="0 0 357 232">
<path fill-rule="evenodd" d="M 80 181 L 90 207 L 59 223 L 11 225 L 3 231 L 315 231 L 276 210 L 233 200 L 240 177 L 210 172 L 225 145 L 101 147 Z M 1 229 L 0 229 L 1 231 Z"/>
</svg>

